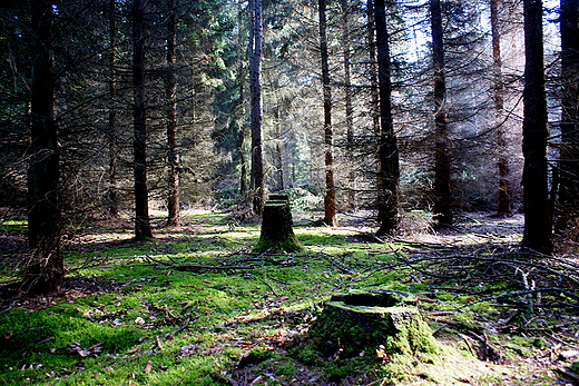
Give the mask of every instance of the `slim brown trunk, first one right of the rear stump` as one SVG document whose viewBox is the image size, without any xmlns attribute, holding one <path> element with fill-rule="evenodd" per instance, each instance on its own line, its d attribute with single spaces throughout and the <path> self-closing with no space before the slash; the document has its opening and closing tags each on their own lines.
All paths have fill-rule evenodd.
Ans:
<svg viewBox="0 0 579 386">
<path fill-rule="evenodd" d="M 318 0 L 320 16 L 320 52 L 322 55 L 322 87 L 324 91 L 324 143 L 325 143 L 325 198 L 324 222 L 337 226 L 336 189 L 334 182 L 334 132 L 332 127 L 332 86 L 330 83 L 330 66 L 326 33 L 326 2 Z"/>
</svg>

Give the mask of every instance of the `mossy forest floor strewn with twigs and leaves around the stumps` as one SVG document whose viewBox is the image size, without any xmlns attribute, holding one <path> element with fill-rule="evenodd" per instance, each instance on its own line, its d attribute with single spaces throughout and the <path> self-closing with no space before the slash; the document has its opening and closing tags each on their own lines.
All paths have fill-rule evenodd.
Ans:
<svg viewBox="0 0 579 386">
<path fill-rule="evenodd" d="M 0 285 L 26 253 L 26 221 L 1 215 Z M 127 219 L 70 229 L 58 294 L 0 290 L 1 385 L 579 384 L 579 254 L 521 253 L 520 215 L 436 232 L 411 211 L 379 239 L 367 214 L 324 228 L 297 212 L 292 255 L 252 253 L 259 227 L 223 212 L 155 215 L 150 241 Z M 356 289 L 412 294 L 436 350 L 307 359 L 324 301 Z"/>
</svg>

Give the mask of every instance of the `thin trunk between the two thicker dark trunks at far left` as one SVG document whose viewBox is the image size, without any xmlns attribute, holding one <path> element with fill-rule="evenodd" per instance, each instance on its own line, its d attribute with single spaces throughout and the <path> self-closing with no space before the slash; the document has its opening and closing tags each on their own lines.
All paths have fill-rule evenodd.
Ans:
<svg viewBox="0 0 579 386">
<path fill-rule="evenodd" d="M 117 177 L 117 71 L 116 66 L 116 46 L 117 46 L 117 22 L 116 12 L 117 0 L 109 0 L 109 106 L 108 106 L 108 141 L 109 141 L 109 174 L 108 174 L 108 201 L 107 209 L 111 217 L 119 216 L 119 192 L 118 192 L 118 177 Z"/>
</svg>

